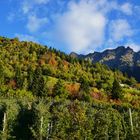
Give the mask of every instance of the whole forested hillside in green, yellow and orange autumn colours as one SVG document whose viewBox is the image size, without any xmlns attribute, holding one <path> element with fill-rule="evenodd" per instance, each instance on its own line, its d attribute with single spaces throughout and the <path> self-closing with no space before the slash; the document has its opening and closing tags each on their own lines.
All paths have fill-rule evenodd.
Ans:
<svg viewBox="0 0 140 140">
<path fill-rule="evenodd" d="M 100 63 L 0 37 L 3 140 L 140 139 L 140 84 Z"/>
</svg>

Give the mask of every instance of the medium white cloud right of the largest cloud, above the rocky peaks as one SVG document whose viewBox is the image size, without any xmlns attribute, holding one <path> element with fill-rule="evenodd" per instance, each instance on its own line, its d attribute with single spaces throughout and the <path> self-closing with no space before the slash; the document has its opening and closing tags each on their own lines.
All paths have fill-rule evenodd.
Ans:
<svg viewBox="0 0 140 140">
<path fill-rule="evenodd" d="M 112 41 L 118 42 L 125 37 L 131 37 L 134 34 L 134 31 L 127 20 L 117 19 L 111 22 L 109 33 Z"/>
</svg>

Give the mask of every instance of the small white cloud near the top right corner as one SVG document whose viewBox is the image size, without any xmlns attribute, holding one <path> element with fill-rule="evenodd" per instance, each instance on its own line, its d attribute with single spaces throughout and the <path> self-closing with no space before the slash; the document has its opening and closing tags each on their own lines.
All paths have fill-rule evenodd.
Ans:
<svg viewBox="0 0 140 140">
<path fill-rule="evenodd" d="M 123 5 L 121 5 L 120 10 L 127 15 L 132 15 L 133 6 L 130 3 L 124 3 Z"/>
</svg>

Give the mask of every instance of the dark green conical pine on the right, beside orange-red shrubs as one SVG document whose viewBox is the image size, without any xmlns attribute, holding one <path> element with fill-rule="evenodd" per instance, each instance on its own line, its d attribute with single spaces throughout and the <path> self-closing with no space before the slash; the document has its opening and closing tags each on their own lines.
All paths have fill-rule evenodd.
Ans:
<svg viewBox="0 0 140 140">
<path fill-rule="evenodd" d="M 111 97 L 112 99 L 119 99 L 121 97 L 121 94 L 122 94 L 122 88 L 120 86 L 119 81 L 115 79 L 113 82 Z"/>
</svg>

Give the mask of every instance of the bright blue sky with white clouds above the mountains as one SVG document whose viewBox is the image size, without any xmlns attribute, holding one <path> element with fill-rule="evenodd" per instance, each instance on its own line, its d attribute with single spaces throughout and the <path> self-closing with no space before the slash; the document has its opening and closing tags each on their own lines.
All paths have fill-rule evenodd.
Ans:
<svg viewBox="0 0 140 140">
<path fill-rule="evenodd" d="M 139 0 L 0 0 L 0 35 L 90 53 L 140 50 Z"/>
</svg>

